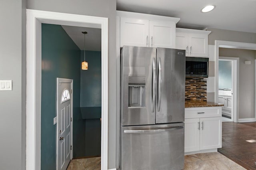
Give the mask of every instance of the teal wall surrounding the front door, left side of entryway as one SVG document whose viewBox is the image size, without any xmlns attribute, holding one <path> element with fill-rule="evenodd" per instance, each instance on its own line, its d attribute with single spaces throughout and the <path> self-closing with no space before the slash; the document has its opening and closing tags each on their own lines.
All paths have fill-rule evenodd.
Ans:
<svg viewBox="0 0 256 170">
<path fill-rule="evenodd" d="M 84 150 L 84 120 L 80 114 L 80 49 L 59 25 L 42 24 L 41 169 L 56 169 L 56 77 L 73 79 L 74 156 Z M 78 142 L 79 141 L 79 142 Z"/>
</svg>

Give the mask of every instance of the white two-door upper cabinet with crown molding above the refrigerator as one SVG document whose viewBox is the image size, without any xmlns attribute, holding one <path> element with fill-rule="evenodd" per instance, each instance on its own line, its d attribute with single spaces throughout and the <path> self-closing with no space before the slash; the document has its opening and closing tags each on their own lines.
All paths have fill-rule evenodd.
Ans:
<svg viewBox="0 0 256 170">
<path fill-rule="evenodd" d="M 124 11 L 117 11 L 117 15 L 120 17 L 120 47 L 175 48 L 179 18 Z"/>
</svg>

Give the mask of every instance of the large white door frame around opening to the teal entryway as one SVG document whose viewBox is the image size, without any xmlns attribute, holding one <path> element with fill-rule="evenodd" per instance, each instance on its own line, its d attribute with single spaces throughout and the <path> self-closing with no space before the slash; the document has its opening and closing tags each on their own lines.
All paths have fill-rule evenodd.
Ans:
<svg viewBox="0 0 256 170">
<path fill-rule="evenodd" d="M 26 170 L 41 169 L 41 24 L 101 28 L 101 169 L 108 169 L 108 18 L 27 9 Z"/>
</svg>

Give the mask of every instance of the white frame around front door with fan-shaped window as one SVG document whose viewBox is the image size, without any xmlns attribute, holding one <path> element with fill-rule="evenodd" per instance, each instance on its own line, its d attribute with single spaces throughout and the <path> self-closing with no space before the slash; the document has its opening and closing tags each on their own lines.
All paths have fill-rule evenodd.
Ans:
<svg viewBox="0 0 256 170">
<path fill-rule="evenodd" d="M 71 91 L 70 91 L 70 118 L 73 118 L 73 79 L 65 79 L 65 78 L 59 78 L 57 77 L 56 79 L 56 108 L 57 108 L 57 119 L 58 119 L 58 114 L 59 114 L 59 103 L 61 98 L 59 99 L 59 83 L 71 83 Z M 59 120 L 59 119 L 58 119 Z M 59 144 L 59 129 L 58 129 L 58 121 L 56 123 L 56 170 L 58 170 L 58 144 Z M 73 146 L 73 121 L 70 121 L 70 145 Z M 65 127 L 66 128 L 66 127 Z M 73 158 L 73 149 L 70 150 L 70 159 Z"/>
</svg>

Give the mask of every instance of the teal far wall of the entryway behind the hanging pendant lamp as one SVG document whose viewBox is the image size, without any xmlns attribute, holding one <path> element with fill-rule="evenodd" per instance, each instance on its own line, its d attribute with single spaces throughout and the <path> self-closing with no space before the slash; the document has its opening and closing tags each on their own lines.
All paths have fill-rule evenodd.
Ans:
<svg viewBox="0 0 256 170">
<path fill-rule="evenodd" d="M 85 123 L 84 156 L 100 156 L 101 51 L 86 51 L 88 70 L 81 70 L 80 107 Z M 84 51 L 81 51 L 84 61 Z"/>
</svg>

